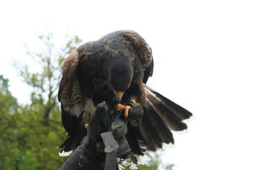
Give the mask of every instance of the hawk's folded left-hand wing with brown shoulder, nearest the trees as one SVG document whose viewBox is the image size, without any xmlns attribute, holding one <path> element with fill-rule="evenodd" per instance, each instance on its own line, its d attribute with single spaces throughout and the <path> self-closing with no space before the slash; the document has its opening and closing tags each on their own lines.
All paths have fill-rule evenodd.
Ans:
<svg viewBox="0 0 256 170">
<path fill-rule="evenodd" d="M 71 133 L 75 122 L 83 111 L 84 98 L 80 92 L 77 68 L 79 52 L 74 51 L 62 65 L 62 77 L 58 92 L 61 102 L 62 123 L 67 133 Z"/>
</svg>

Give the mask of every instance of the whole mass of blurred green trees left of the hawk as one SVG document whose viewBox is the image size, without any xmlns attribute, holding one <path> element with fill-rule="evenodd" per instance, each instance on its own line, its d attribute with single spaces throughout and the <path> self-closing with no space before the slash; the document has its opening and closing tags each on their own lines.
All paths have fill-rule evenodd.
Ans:
<svg viewBox="0 0 256 170">
<path fill-rule="evenodd" d="M 28 50 L 37 71 L 32 71 L 28 64 L 19 66 L 20 76 L 31 89 L 28 105 L 17 103 L 9 92 L 9 81 L 0 76 L 0 169 L 58 169 L 67 159 L 59 156 L 57 149 L 66 135 L 57 89 L 61 63 L 81 40 L 67 37 L 62 47 L 55 47 L 53 40 L 52 33 L 44 34 L 39 36 L 43 51 Z"/>
</svg>

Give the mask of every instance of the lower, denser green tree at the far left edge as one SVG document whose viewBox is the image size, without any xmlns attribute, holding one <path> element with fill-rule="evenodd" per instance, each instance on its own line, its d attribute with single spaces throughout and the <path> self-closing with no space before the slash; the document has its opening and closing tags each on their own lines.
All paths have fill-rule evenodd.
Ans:
<svg viewBox="0 0 256 170">
<path fill-rule="evenodd" d="M 0 169 L 27 169 L 37 167 L 37 160 L 30 150 L 24 150 L 20 137 L 20 122 L 24 116 L 20 114 L 17 100 L 9 92 L 8 79 L 0 76 Z"/>
</svg>

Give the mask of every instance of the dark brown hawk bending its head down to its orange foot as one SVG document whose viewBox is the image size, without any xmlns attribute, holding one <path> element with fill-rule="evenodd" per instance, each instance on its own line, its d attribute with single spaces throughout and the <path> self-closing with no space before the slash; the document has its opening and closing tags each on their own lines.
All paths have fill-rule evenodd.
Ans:
<svg viewBox="0 0 256 170">
<path fill-rule="evenodd" d="M 153 69 L 151 48 L 131 30 L 113 31 L 69 54 L 62 65 L 58 93 L 68 133 L 61 151 L 75 150 L 86 135 L 84 124 L 103 101 L 113 110 L 117 104 L 143 107 L 139 125 L 127 124 L 125 136 L 134 154 L 173 144 L 172 131 L 186 129 L 183 120 L 192 114 L 146 85 Z M 130 108 L 125 105 L 125 112 Z"/>
</svg>

